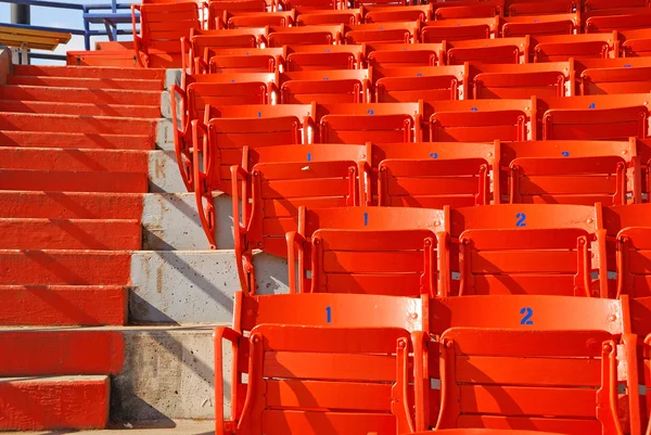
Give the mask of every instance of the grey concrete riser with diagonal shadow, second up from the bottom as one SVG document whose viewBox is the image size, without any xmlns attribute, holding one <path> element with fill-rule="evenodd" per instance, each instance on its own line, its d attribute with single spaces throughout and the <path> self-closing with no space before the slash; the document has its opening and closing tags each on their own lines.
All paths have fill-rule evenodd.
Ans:
<svg viewBox="0 0 651 435">
<path fill-rule="evenodd" d="M 286 259 L 254 255 L 258 294 L 288 292 Z M 131 256 L 129 322 L 230 322 L 240 289 L 232 251 L 140 251 Z"/>
</svg>

